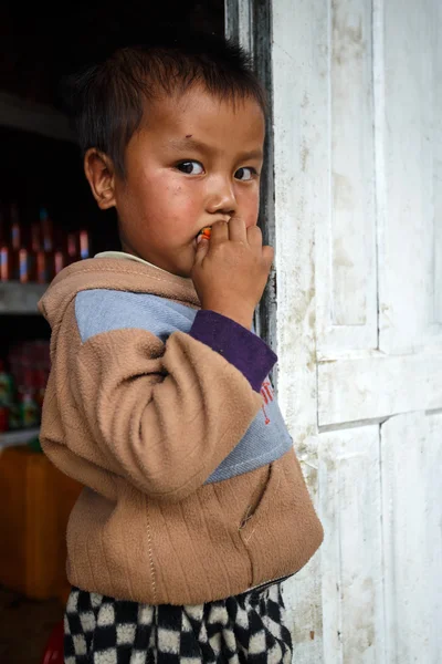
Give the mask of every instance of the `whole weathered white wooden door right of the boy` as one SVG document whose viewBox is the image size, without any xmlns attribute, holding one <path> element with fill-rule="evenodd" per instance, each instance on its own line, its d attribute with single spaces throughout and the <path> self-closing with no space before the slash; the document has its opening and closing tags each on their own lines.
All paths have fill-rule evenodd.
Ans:
<svg viewBox="0 0 442 664">
<path fill-rule="evenodd" d="M 442 3 L 271 10 L 278 398 L 326 533 L 294 662 L 441 664 Z"/>
</svg>

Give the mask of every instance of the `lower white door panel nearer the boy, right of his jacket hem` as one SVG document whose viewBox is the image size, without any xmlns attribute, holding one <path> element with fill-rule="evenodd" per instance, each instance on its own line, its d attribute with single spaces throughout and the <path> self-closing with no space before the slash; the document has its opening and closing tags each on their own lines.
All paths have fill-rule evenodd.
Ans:
<svg viewBox="0 0 442 664">
<path fill-rule="evenodd" d="M 385 662 L 379 426 L 319 436 L 324 662 Z"/>
</svg>

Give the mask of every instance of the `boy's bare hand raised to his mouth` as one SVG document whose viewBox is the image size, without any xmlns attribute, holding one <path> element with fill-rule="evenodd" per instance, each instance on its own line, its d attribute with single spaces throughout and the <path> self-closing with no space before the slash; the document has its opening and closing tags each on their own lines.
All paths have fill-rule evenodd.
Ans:
<svg viewBox="0 0 442 664">
<path fill-rule="evenodd" d="M 198 245 L 192 280 L 201 309 L 210 309 L 250 329 L 273 261 L 257 226 L 245 228 L 238 217 L 217 221 L 210 240 Z"/>
</svg>

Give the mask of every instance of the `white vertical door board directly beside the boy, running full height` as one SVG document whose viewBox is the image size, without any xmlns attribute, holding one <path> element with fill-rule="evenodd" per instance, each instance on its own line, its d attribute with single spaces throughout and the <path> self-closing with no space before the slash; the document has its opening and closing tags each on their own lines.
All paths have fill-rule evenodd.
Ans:
<svg viewBox="0 0 442 664">
<path fill-rule="evenodd" d="M 324 8 L 323 0 L 272 4 L 278 400 L 313 496 L 317 491 L 315 226 L 328 210 L 323 173 L 328 154 Z M 323 661 L 320 584 L 320 553 L 285 584 L 296 664 Z"/>
</svg>

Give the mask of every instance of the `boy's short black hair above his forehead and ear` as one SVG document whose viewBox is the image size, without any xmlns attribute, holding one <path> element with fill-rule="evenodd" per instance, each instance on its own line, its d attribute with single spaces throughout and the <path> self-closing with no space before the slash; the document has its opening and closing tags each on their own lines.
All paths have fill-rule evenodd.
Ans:
<svg viewBox="0 0 442 664">
<path fill-rule="evenodd" d="M 266 114 L 265 92 L 250 55 L 225 38 L 158 31 L 143 45 L 117 49 L 63 83 L 83 154 L 96 147 L 125 175 L 125 149 L 139 128 L 146 102 L 202 85 L 232 101 L 254 98 Z"/>
</svg>

